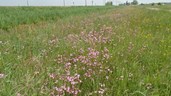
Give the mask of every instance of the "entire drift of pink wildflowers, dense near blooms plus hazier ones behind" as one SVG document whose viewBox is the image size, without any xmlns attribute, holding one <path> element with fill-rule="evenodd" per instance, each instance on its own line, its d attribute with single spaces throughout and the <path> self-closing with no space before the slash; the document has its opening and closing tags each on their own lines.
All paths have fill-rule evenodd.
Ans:
<svg viewBox="0 0 171 96">
<path fill-rule="evenodd" d="M 104 67 L 103 61 L 108 61 L 111 57 L 107 47 L 103 50 L 97 49 L 94 44 L 109 42 L 112 32 L 111 27 L 103 29 L 100 32 L 81 33 L 78 35 L 69 35 L 68 40 L 76 44 L 78 38 L 81 38 L 85 43 L 89 43 L 92 47 L 87 49 L 80 48 L 76 53 L 71 53 L 69 56 L 58 55 L 56 61 L 58 64 L 63 65 L 63 72 L 58 75 L 55 73 L 49 74 L 49 77 L 57 84 L 53 85 L 52 96 L 59 95 L 73 95 L 77 96 L 81 92 L 81 85 L 86 80 L 94 80 L 94 76 L 101 76 L 101 74 L 108 74 L 111 71 L 109 68 Z M 106 65 L 105 65 L 106 66 Z M 100 70 L 100 71 L 99 71 Z M 109 76 L 106 76 L 106 80 Z M 103 95 L 105 88 L 100 88 L 97 94 Z"/>
</svg>

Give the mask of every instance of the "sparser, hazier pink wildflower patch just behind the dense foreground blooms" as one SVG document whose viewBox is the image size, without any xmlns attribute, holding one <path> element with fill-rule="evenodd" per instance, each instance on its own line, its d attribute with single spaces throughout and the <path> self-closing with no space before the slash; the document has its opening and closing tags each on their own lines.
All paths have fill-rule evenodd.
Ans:
<svg viewBox="0 0 171 96">
<path fill-rule="evenodd" d="M 105 44 L 110 42 L 111 36 L 115 34 L 112 27 L 106 27 L 105 25 L 100 31 L 81 32 L 80 34 L 69 34 L 66 38 L 69 42 L 76 45 L 79 41 L 86 42 L 91 45 Z"/>
</svg>

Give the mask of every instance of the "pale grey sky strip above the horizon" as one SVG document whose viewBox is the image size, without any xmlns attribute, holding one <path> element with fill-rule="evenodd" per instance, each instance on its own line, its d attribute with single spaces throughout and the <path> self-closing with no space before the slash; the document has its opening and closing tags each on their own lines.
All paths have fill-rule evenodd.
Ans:
<svg viewBox="0 0 171 96">
<path fill-rule="evenodd" d="M 107 0 L 93 0 L 93 5 L 104 5 Z M 109 0 L 110 1 L 110 0 Z M 132 0 L 111 0 L 113 4 L 119 4 Z M 63 0 L 28 0 L 31 6 L 63 6 Z M 74 3 L 73 3 L 74 2 Z M 139 3 L 151 2 L 171 2 L 171 0 L 138 0 Z M 92 0 L 87 0 L 88 5 L 92 5 Z M 27 0 L 0 0 L 0 6 L 26 6 Z M 65 0 L 65 5 L 85 5 L 85 0 Z"/>
</svg>

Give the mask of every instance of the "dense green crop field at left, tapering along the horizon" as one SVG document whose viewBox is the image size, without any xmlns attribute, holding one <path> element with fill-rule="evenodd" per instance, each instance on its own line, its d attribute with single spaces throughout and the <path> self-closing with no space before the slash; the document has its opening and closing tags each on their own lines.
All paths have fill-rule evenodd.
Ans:
<svg viewBox="0 0 171 96">
<path fill-rule="evenodd" d="M 20 24 L 53 21 L 73 15 L 88 14 L 111 7 L 0 7 L 0 28 L 8 30 Z"/>
</svg>

